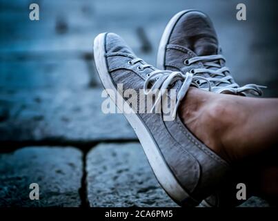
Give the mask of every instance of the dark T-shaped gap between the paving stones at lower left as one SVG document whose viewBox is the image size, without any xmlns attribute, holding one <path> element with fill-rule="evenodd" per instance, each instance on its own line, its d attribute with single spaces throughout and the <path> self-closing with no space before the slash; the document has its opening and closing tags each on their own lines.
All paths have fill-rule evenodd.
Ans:
<svg viewBox="0 0 278 221">
<path fill-rule="evenodd" d="M 137 139 L 130 140 L 99 140 L 94 142 L 76 142 L 76 141 L 58 141 L 58 140 L 42 140 L 42 141 L 24 141 L 24 142 L 14 142 L 14 141 L 6 141 L 0 142 L 0 153 L 12 153 L 19 148 L 24 148 L 26 146 L 60 146 L 67 147 L 72 146 L 78 148 L 79 151 L 82 152 L 82 177 L 81 177 L 81 187 L 79 189 L 79 198 L 81 201 L 80 207 L 90 207 L 90 203 L 88 200 L 87 194 L 87 154 L 88 152 L 97 146 L 97 144 L 109 144 L 109 143 L 129 143 L 129 142 L 139 142 Z"/>
</svg>

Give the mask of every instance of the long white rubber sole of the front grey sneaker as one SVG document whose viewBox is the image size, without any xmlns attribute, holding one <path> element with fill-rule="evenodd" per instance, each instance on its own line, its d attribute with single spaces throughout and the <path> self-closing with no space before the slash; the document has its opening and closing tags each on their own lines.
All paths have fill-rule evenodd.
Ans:
<svg viewBox="0 0 278 221">
<path fill-rule="evenodd" d="M 115 88 L 114 84 L 112 83 L 112 79 L 110 78 L 110 74 L 108 73 L 108 68 L 106 66 L 106 57 L 105 57 L 105 37 L 106 33 L 99 34 L 94 41 L 94 57 L 95 57 L 95 64 L 97 67 L 97 72 L 101 79 L 101 82 L 106 89 L 112 89 L 117 97 L 117 99 L 123 100 L 123 97 L 119 94 L 117 89 Z M 109 90 L 106 90 L 109 95 Z M 117 105 L 117 100 L 113 100 L 115 96 L 109 95 L 110 99 Z M 126 107 L 130 107 L 126 101 L 123 103 Z M 126 108 L 125 107 L 125 108 Z M 121 110 L 121 106 L 118 106 Z M 180 186 L 179 182 L 177 182 L 175 176 L 170 171 L 168 165 L 166 164 L 157 144 L 152 138 L 152 135 L 148 132 L 145 124 L 141 121 L 141 119 L 135 114 L 130 108 L 131 113 L 123 113 L 135 130 L 139 141 L 143 147 L 143 151 L 148 158 L 148 162 L 152 167 L 152 171 L 155 173 L 157 180 L 163 187 L 163 189 L 170 195 L 170 197 L 175 200 L 177 203 L 181 203 L 183 200 L 190 198 L 188 193 L 184 191 L 184 189 Z"/>
</svg>

